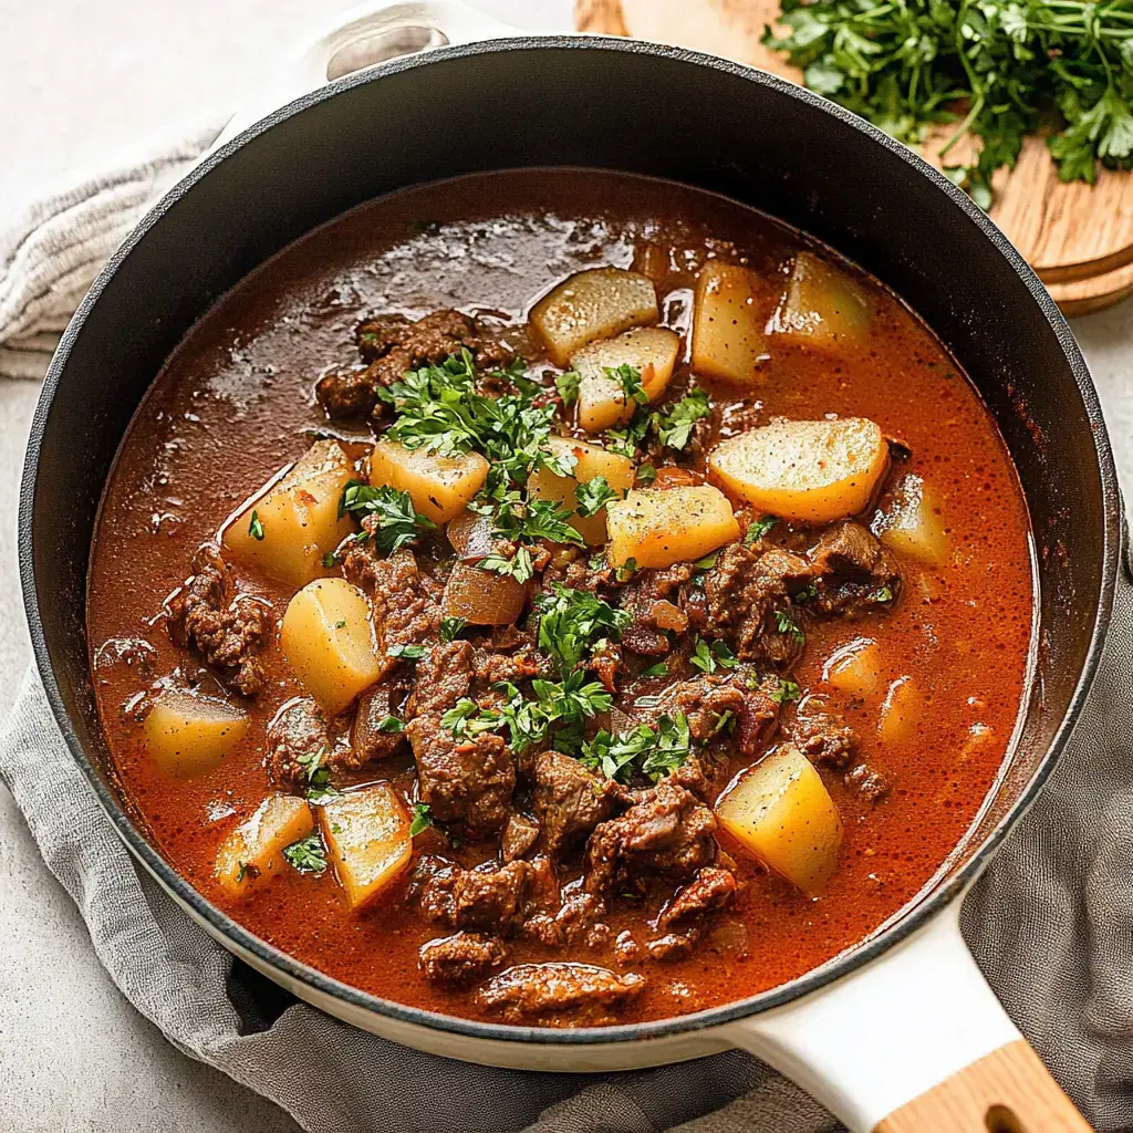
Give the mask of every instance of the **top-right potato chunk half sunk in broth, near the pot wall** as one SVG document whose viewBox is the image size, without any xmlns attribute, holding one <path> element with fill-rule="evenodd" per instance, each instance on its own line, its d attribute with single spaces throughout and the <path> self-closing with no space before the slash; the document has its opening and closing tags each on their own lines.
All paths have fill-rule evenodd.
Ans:
<svg viewBox="0 0 1133 1133">
<path fill-rule="evenodd" d="M 868 337 L 869 298 L 844 271 L 800 252 L 772 330 L 808 350 L 845 353 Z"/>
</svg>

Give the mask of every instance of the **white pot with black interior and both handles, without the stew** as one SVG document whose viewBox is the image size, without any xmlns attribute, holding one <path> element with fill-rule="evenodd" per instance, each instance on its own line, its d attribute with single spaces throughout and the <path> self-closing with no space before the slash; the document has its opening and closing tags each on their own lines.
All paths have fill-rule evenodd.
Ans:
<svg viewBox="0 0 1133 1133">
<path fill-rule="evenodd" d="M 351 73 L 398 51 L 416 53 Z M 254 968 L 334 1015 L 426 1050 L 591 1071 L 741 1046 L 854 1130 L 986 1130 L 1011 1110 L 1029 1133 L 1085 1128 L 957 928 L 960 898 L 1041 789 L 1079 716 L 1119 559 L 1121 502 L 1098 399 L 1034 273 L 965 196 L 878 130 L 778 78 L 689 51 L 517 36 L 457 3 L 372 5 L 298 56 L 267 97 L 288 104 L 233 123 L 232 139 L 99 276 L 52 361 L 27 453 L 20 566 L 36 661 L 76 761 L 138 860 Z M 752 998 L 565 1032 L 365 995 L 283 955 L 196 893 L 145 841 L 105 776 L 85 622 L 91 538 L 114 454 L 165 357 L 214 300 L 361 202 L 530 165 L 620 169 L 723 193 L 813 233 L 903 296 L 972 376 L 1014 458 L 1038 543 L 1033 637 L 1042 642 L 1000 781 L 964 844 L 901 914 Z"/>
</svg>

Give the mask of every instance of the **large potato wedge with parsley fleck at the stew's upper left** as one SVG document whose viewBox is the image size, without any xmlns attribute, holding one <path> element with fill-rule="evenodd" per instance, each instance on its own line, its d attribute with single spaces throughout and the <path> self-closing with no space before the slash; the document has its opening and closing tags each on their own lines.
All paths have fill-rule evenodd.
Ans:
<svg viewBox="0 0 1133 1133">
<path fill-rule="evenodd" d="M 323 555 L 351 531 L 350 518 L 339 518 L 339 501 L 352 475 L 337 442 L 316 441 L 283 479 L 228 525 L 224 546 L 238 562 L 281 582 L 303 586 L 318 578 Z"/>
</svg>

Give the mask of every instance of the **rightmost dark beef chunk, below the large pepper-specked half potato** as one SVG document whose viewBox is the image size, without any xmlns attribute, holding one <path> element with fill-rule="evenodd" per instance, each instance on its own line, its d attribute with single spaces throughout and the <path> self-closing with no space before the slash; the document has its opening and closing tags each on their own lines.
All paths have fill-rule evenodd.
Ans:
<svg viewBox="0 0 1133 1133">
<path fill-rule="evenodd" d="M 901 589 L 893 556 L 852 519 L 826 528 L 810 561 L 817 578 L 807 608 L 816 614 L 855 617 L 892 603 Z"/>
</svg>

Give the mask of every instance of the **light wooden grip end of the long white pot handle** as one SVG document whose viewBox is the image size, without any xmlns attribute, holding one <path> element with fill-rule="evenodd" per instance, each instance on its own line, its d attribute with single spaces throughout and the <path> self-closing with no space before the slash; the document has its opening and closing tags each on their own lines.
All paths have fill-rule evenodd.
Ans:
<svg viewBox="0 0 1133 1133">
<path fill-rule="evenodd" d="M 1025 1039 L 978 1058 L 895 1109 L 874 1133 L 1090 1133 Z"/>
</svg>

